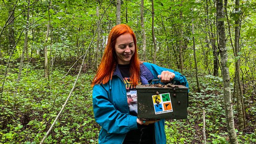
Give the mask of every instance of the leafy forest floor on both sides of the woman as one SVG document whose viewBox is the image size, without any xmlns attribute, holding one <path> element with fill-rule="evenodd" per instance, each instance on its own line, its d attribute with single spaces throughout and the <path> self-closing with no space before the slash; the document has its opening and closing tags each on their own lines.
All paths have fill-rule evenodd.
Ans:
<svg viewBox="0 0 256 144">
<path fill-rule="evenodd" d="M 3 68 L 2 68 L 3 69 Z M 2 74 L 0 83 L 2 84 Z M 43 70 L 25 69 L 16 84 L 17 71 L 9 72 L 4 92 L 1 94 L 0 144 L 37 144 L 50 128 L 62 104 L 68 97 L 76 75 L 64 76 L 65 70 L 52 70 L 50 78 L 44 79 Z M 92 108 L 93 76 L 80 76 L 67 106 L 44 143 L 97 143 L 100 126 L 96 124 Z M 203 143 L 203 111 L 207 143 L 226 144 L 228 133 L 223 105 L 222 79 L 200 76 L 201 92 L 196 92 L 196 81 L 187 77 L 190 84 L 188 119 L 166 120 L 165 131 L 168 144 Z M 245 84 L 244 105 L 246 130 L 237 130 L 237 111 L 234 101 L 236 133 L 239 143 L 256 143 L 256 100 L 250 83 Z M 231 85 L 231 88 L 233 86 Z M 17 88 L 17 91 L 15 90 Z"/>
</svg>

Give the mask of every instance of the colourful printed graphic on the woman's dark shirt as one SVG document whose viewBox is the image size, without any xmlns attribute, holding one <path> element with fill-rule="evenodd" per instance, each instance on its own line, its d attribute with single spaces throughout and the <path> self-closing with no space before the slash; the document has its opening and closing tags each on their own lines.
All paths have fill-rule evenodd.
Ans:
<svg viewBox="0 0 256 144">
<path fill-rule="evenodd" d="M 137 101 L 137 90 L 136 87 L 130 82 L 129 77 L 124 78 L 124 84 L 127 92 L 127 102 L 128 102 L 128 107 L 130 114 L 132 116 L 137 116 L 138 110 L 138 101 Z M 138 82 L 138 85 L 140 85 L 141 82 Z"/>
</svg>

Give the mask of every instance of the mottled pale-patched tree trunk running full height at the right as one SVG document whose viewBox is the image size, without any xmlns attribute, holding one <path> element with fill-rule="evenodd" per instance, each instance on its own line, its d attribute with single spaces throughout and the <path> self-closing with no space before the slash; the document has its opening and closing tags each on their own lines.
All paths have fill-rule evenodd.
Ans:
<svg viewBox="0 0 256 144">
<path fill-rule="evenodd" d="M 217 29 L 218 29 L 218 40 L 220 48 L 220 64 L 222 70 L 223 78 L 223 94 L 224 94 L 224 107 L 226 113 L 226 121 L 228 128 L 228 136 L 231 144 L 238 144 L 236 138 L 234 116 L 233 116 L 233 104 L 231 100 L 231 90 L 230 90 L 230 76 L 229 69 L 227 67 L 228 62 L 228 52 L 226 48 L 226 33 L 224 25 L 224 8 L 223 0 L 218 0 L 217 2 Z"/>
</svg>

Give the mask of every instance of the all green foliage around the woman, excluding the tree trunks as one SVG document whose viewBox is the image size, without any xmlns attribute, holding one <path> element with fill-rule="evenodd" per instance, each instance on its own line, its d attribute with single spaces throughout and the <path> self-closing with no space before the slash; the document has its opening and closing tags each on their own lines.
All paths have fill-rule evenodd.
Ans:
<svg viewBox="0 0 256 144">
<path fill-rule="evenodd" d="M 146 60 L 153 61 L 154 47 L 152 43 L 152 8 L 151 0 L 144 0 L 144 26 L 146 32 L 147 50 Z M 207 2 L 207 4 L 206 4 Z M 255 123 L 255 36 L 256 36 L 256 4 L 254 1 L 241 1 L 241 11 L 234 12 L 234 1 L 227 1 L 227 18 L 224 21 L 228 35 L 228 67 L 231 76 L 231 89 L 235 76 L 234 63 L 240 60 L 241 78 L 243 81 L 245 112 L 248 130 L 237 132 L 240 143 L 256 143 Z M 202 109 L 206 111 L 206 133 L 208 143 L 226 143 L 226 121 L 224 118 L 222 78 L 212 76 L 213 60 L 220 56 L 213 56 L 213 48 L 218 47 L 216 31 L 216 5 L 214 1 L 195 0 L 154 0 L 155 7 L 155 37 L 157 41 L 156 64 L 179 71 L 179 54 L 182 47 L 184 63 L 183 74 L 190 84 L 190 106 L 188 120 L 167 120 L 166 136 L 168 143 L 202 143 Z M 0 30 L 2 30 L 9 13 L 16 4 L 15 0 L 0 1 Z M 116 25 L 116 5 L 108 0 L 60 0 L 49 2 L 46 0 L 33 1 L 30 7 L 28 30 L 28 48 L 25 52 L 25 64 L 20 83 L 16 83 L 20 56 L 24 45 L 24 33 L 21 31 L 26 25 L 27 1 L 17 1 L 14 11 L 14 24 L 9 24 L 0 36 L 0 84 L 3 84 L 5 70 L 7 76 L 4 91 L 0 93 L 0 143 L 39 143 L 60 111 L 67 98 L 82 56 L 88 49 L 83 74 L 68 102 L 63 114 L 57 121 L 45 143 L 97 143 L 99 125 L 93 118 L 92 89 L 90 82 L 94 74 L 96 52 L 96 7 L 99 14 L 104 14 L 100 21 L 100 48 L 98 64 L 103 55 L 110 29 Z M 110 7 L 107 9 L 107 6 Z M 48 10 L 49 8 L 49 10 Z M 127 13 L 126 13 L 127 8 Z M 241 12 L 241 13 L 240 13 Z M 126 15 L 127 14 L 127 15 Z M 43 19 L 41 19 L 43 18 Z M 240 52 L 234 56 L 231 41 L 234 40 L 234 28 L 238 26 L 234 20 L 240 19 Z M 40 20 L 41 19 L 41 20 Z M 200 75 L 201 92 L 196 92 L 195 62 L 193 60 L 192 19 L 196 48 L 197 67 Z M 48 20 L 50 33 L 48 43 L 45 34 Z M 127 20 L 127 21 L 126 21 Z M 142 54 L 140 2 L 123 0 L 121 5 L 121 21 L 134 30 L 138 52 Z M 10 42 L 14 32 L 17 45 Z M 18 41 L 18 36 L 20 40 Z M 91 40 L 94 40 L 91 43 Z M 232 41 L 234 44 L 234 41 Z M 51 73 L 49 79 L 44 79 L 44 46 L 48 48 L 48 58 Z M 7 62 L 10 58 L 10 66 Z M 218 52 L 218 50 L 216 51 Z M 141 55 L 140 55 L 141 56 Z M 78 61 L 64 79 L 62 76 Z M 219 68 L 220 75 L 220 68 Z M 17 89 L 16 89 L 17 88 Z M 235 99 L 234 103 L 236 102 Z M 237 115 L 236 104 L 234 114 Z M 235 124 L 237 121 L 235 121 Z"/>
</svg>

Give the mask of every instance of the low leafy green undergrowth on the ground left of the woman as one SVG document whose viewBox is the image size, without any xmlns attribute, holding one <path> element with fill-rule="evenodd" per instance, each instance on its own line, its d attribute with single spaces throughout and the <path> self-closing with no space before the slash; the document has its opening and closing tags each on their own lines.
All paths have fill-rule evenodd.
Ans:
<svg viewBox="0 0 256 144">
<path fill-rule="evenodd" d="M 27 69 L 20 84 L 9 74 L 3 93 L 0 125 L 1 143 L 39 143 L 60 111 L 75 80 L 63 71 L 52 72 L 50 80 L 41 78 L 43 71 Z M 92 76 L 82 75 L 65 111 L 45 143 L 96 143 L 99 126 L 92 110 Z M 14 87 L 18 86 L 15 94 Z"/>
</svg>

